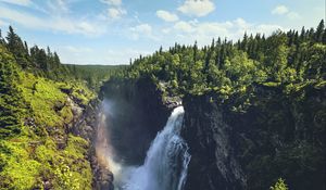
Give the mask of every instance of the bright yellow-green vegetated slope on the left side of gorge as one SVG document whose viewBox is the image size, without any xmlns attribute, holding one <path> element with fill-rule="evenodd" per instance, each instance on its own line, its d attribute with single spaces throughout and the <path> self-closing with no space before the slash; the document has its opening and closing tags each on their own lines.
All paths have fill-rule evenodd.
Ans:
<svg viewBox="0 0 326 190">
<path fill-rule="evenodd" d="M 16 61 L 0 45 L 0 189 L 91 189 L 89 144 L 67 126 L 73 107 L 86 107 L 96 94 L 78 80 L 37 76 L 38 68 L 33 74 Z"/>
</svg>

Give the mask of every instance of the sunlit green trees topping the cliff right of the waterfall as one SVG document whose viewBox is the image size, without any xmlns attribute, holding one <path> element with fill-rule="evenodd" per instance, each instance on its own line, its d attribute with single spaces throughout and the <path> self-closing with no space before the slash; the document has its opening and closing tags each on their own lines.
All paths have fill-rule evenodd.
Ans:
<svg viewBox="0 0 326 190">
<path fill-rule="evenodd" d="M 168 94 L 204 94 L 215 92 L 223 101 L 252 93 L 251 86 L 285 87 L 289 84 L 325 79 L 323 22 L 316 31 L 303 29 L 275 31 L 272 36 L 244 35 L 237 43 L 220 38 L 201 49 L 193 46 L 156 51 L 135 60 L 123 78 L 155 78 Z M 315 36 L 315 37 L 314 37 Z M 318 39 L 318 40 L 316 40 Z M 159 86 L 160 87 L 160 86 Z M 243 90 L 246 89 L 246 90 Z"/>
</svg>

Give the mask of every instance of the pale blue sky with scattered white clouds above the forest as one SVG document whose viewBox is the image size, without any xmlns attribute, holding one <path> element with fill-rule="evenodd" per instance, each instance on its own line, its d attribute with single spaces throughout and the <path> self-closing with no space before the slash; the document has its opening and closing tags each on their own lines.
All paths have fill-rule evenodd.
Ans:
<svg viewBox="0 0 326 190">
<path fill-rule="evenodd" d="M 129 64 L 175 42 L 316 27 L 325 7 L 325 0 L 0 0 L 0 28 L 5 36 L 11 25 L 29 46 L 49 46 L 63 63 Z"/>
</svg>

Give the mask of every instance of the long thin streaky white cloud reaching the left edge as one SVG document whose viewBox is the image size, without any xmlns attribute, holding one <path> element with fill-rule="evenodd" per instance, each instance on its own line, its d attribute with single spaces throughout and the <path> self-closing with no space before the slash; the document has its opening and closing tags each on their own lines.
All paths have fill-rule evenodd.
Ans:
<svg viewBox="0 0 326 190">
<path fill-rule="evenodd" d="M 9 20 L 34 29 L 49 29 L 54 31 L 64 31 L 67 34 L 83 34 L 86 36 L 97 36 L 103 33 L 103 28 L 99 24 L 84 20 L 36 17 L 28 13 L 14 11 L 4 7 L 0 7 L 0 12 L 1 18 Z"/>
</svg>

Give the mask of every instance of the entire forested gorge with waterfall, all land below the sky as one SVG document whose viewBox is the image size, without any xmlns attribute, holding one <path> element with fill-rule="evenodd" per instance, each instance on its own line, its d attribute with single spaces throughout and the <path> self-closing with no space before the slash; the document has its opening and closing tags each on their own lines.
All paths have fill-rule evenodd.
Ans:
<svg viewBox="0 0 326 190">
<path fill-rule="evenodd" d="M 324 21 L 111 67 L 61 64 L 10 28 L 0 189 L 325 189 L 323 35 Z"/>
</svg>

